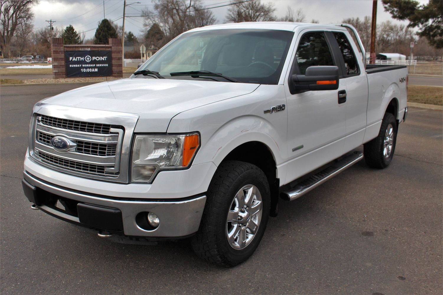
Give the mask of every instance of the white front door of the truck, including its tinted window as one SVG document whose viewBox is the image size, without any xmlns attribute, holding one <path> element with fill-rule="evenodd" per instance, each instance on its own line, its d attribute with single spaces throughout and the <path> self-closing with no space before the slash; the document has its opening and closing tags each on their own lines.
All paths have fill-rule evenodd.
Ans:
<svg viewBox="0 0 443 295">
<path fill-rule="evenodd" d="M 296 90 L 292 74 L 304 75 L 309 66 L 338 66 L 323 31 L 299 34 L 295 57 L 285 87 L 288 112 L 288 173 L 286 183 L 343 154 L 346 135 L 346 104 L 339 103 L 337 90 Z"/>
</svg>

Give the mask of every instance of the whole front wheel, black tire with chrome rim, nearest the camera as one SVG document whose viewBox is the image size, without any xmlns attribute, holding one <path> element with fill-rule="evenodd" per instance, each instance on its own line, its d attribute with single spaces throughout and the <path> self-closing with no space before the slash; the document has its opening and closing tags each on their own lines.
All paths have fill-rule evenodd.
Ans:
<svg viewBox="0 0 443 295">
<path fill-rule="evenodd" d="M 269 210 L 268 179 L 260 168 L 240 161 L 221 163 L 192 240 L 194 252 L 225 267 L 247 260 L 263 237 Z"/>
</svg>

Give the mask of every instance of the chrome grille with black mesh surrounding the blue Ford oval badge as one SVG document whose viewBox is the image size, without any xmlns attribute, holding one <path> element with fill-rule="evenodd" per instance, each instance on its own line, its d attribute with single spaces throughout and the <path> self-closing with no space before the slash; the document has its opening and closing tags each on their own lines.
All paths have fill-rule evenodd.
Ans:
<svg viewBox="0 0 443 295">
<path fill-rule="evenodd" d="M 51 144 L 55 136 L 69 140 L 72 148 L 59 151 Z M 68 120 L 36 115 L 34 156 L 46 166 L 89 178 L 118 178 L 120 175 L 121 125 Z"/>
</svg>

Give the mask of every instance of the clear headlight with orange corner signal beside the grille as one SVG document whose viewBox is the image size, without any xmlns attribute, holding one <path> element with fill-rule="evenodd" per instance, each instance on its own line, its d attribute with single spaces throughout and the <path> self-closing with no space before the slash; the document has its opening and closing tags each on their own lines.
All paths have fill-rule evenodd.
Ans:
<svg viewBox="0 0 443 295">
<path fill-rule="evenodd" d="M 198 133 L 136 135 L 132 151 L 132 182 L 151 182 L 158 171 L 186 168 L 200 146 Z"/>
</svg>

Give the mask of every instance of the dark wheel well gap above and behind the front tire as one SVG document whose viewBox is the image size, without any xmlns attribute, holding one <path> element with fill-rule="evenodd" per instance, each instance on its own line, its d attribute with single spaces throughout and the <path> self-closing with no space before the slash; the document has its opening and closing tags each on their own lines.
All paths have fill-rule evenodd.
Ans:
<svg viewBox="0 0 443 295">
<path fill-rule="evenodd" d="M 276 162 L 269 148 L 259 141 L 250 141 L 233 149 L 224 160 L 251 163 L 264 172 L 271 189 L 271 216 L 276 216 L 280 180 L 277 179 Z"/>
</svg>

